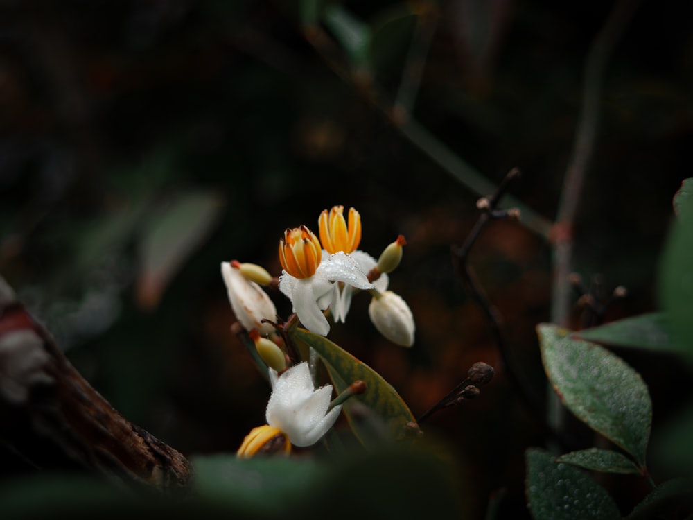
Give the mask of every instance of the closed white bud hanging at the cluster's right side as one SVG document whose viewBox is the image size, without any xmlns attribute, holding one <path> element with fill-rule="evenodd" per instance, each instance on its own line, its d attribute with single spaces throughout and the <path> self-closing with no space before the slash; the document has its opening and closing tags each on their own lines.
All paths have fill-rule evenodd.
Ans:
<svg viewBox="0 0 693 520">
<path fill-rule="evenodd" d="M 397 345 L 414 345 L 414 315 L 402 297 L 392 291 L 376 294 L 368 306 L 376 329 Z"/>
</svg>

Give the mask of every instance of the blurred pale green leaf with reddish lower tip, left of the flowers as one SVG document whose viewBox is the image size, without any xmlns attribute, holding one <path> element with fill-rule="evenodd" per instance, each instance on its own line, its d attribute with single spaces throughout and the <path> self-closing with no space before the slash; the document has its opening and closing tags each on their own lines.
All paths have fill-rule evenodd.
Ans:
<svg viewBox="0 0 693 520">
<path fill-rule="evenodd" d="M 214 191 L 182 193 L 146 223 L 139 237 L 137 302 L 157 306 L 170 280 L 200 247 L 220 216 L 224 199 Z"/>
</svg>

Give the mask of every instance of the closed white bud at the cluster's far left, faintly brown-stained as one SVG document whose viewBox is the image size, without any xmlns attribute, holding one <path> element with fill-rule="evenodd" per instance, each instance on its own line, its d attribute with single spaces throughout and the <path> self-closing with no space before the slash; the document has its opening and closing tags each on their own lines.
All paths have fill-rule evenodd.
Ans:
<svg viewBox="0 0 693 520">
<path fill-rule="evenodd" d="M 272 322 L 277 320 L 277 309 L 269 295 L 254 281 L 243 276 L 240 269 L 234 267 L 236 264 L 237 262 L 221 263 L 221 274 L 236 320 L 247 331 L 258 329 L 263 335 L 269 334 L 274 331 L 274 327 L 261 320 L 267 319 Z"/>
</svg>

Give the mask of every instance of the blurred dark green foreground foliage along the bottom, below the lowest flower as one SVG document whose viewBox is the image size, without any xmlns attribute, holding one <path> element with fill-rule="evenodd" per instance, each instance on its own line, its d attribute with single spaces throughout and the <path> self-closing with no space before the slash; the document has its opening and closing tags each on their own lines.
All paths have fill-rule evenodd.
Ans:
<svg viewBox="0 0 693 520">
<path fill-rule="evenodd" d="M 353 519 L 356 512 L 374 518 L 460 517 L 459 482 L 449 462 L 429 447 L 389 444 L 329 460 L 240 460 L 219 453 L 191 461 L 194 496 L 242 518 Z"/>
</svg>

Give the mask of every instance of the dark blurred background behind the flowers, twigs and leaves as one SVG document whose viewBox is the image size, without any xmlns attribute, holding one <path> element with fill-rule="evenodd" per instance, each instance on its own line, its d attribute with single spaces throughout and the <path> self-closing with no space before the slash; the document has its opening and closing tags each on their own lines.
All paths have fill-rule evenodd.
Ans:
<svg viewBox="0 0 693 520">
<path fill-rule="evenodd" d="M 495 366 L 479 399 L 428 428 L 450 443 L 469 517 L 502 490 L 522 517 L 523 451 L 545 439 L 450 261 L 479 194 L 340 77 L 340 53 L 326 60 L 306 40 L 310 4 L 1 1 L 0 273 L 125 417 L 188 455 L 233 452 L 264 422 L 268 388 L 229 332 L 220 262 L 278 275 L 286 227 L 317 231 L 322 209 L 356 207 L 360 249 L 377 257 L 398 234 L 407 239 L 390 288 L 410 304 L 416 342 L 381 338 L 365 297 L 330 338 L 378 370 L 414 415 L 475 361 Z M 584 62 L 611 2 L 332 4 L 371 27 L 363 74 L 383 99 L 396 96 L 417 13 L 435 8 L 412 118 L 493 183 L 520 168 L 511 195 L 554 219 Z M 575 267 L 586 281 L 599 275 L 607 293 L 628 289 L 607 319 L 657 307 L 672 196 L 690 176 L 686 7 L 642 1 L 606 67 Z M 534 327 L 550 320 L 551 251 L 545 236 L 502 220 L 471 256 L 514 368 L 538 395 Z M 273 298 L 286 317 L 288 301 Z M 670 374 L 657 358 L 625 356 L 650 385 L 657 425 L 672 407 Z M 3 478 L 29 470 L 2 458 Z"/>
</svg>

